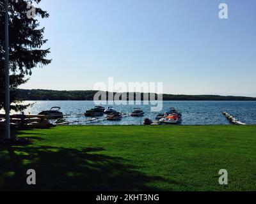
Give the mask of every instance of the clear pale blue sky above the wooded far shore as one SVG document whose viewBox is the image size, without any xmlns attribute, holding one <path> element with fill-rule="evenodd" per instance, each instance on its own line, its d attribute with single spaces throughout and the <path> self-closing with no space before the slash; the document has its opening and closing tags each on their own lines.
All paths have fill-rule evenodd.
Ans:
<svg viewBox="0 0 256 204">
<path fill-rule="evenodd" d="M 218 5 L 228 4 L 228 19 Z M 52 63 L 27 89 L 163 82 L 173 94 L 256 96 L 255 0 L 42 0 Z"/>
</svg>

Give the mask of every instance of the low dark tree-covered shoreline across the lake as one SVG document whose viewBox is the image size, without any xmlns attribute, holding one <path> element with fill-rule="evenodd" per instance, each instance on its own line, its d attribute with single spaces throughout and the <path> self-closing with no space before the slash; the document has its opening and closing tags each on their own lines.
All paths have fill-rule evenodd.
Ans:
<svg viewBox="0 0 256 204">
<path fill-rule="evenodd" d="M 24 101 L 93 101 L 93 96 L 98 91 L 54 91 L 45 89 L 17 89 L 13 92 L 15 92 L 15 96 L 18 99 L 22 99 Z M 114 92 L 114 94 L 116 93 Z M 128 93 L 125 94 L 127 94 L 128 96 Z M 133 94 L 135 99 L 136 93 Z M 141 101 L 144 101 L 143 93 L 139 94 L 141 96 Z M 157 94 L 155 94 L 155 96 L 157 99 Z M 124 101 L 129 101 L 129 99 L 127 98 Z M 148 101 L 148 98 L 145 99 L 145 101 Z M 256 98 L 246 96 L 163 94 L 163 101 L 256 101 Z"/>
</svg>

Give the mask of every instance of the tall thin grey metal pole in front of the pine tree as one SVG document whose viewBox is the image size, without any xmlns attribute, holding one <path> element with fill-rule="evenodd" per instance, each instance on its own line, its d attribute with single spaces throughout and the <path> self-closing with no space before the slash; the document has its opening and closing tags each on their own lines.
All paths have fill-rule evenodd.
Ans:
<svg viewBox="0 0 256 204">
<path fill-rule="evenodd" d="M 4 1 L 5 5 L 5 126 L 6 139 L 10 139 L 10 78 L 9 78 L 9 15 L 8 15 L 8 0 Z"/>
</svg>

